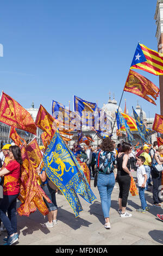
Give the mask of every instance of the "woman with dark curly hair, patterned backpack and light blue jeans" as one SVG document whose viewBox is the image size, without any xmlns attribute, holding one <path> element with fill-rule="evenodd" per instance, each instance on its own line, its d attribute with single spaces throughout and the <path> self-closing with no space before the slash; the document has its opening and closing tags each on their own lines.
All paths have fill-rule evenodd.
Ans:
<svg viewBox="0 0 163 256">
<path fill-rule="evenodd" d="M 101 149 L 102 150 L 98 152 L 96 159 L 98 167 L 97 187 L 105 218 L 104 227 L 110 229 L 109 211 L 111 205 L 111 193 L 115 185 L 115 176 L 113 172 L 115 154 L 112 152 L 114 150 L 114 144 L 110 138 L 107 137 L 103 139 Z"/>
</svg>

